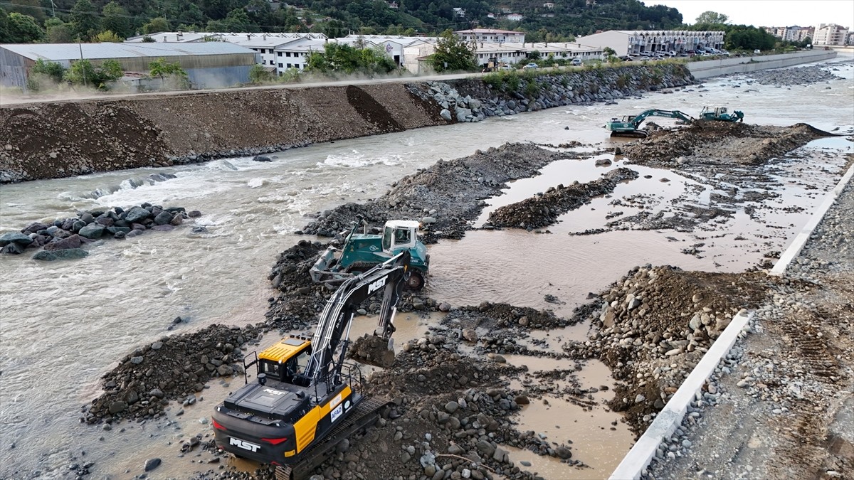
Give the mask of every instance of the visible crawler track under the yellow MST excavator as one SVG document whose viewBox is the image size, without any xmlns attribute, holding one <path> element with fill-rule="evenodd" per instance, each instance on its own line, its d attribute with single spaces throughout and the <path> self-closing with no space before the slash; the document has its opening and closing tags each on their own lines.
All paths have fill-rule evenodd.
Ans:
<svg viewBox="0 0 854 480">
<path fill-rule="evenodd" d="M 335 451 L 338 442 L 372 425 L 379 418 L 379 411 L 391 401 L 384 397 L 367 398 L 360 401 L 344 421 L 337 424 L 320 442 L 307 448 L 300 455 L 303 459 L 294 465 L 276 467 L 276 480 L 303 480 L 318 465 L 325 462 Z"/>
</svg>

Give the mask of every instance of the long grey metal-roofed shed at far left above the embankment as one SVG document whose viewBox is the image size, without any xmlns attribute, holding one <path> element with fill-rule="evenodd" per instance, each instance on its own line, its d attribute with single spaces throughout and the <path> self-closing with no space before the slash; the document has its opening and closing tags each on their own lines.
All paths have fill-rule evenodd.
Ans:
<svg viewBox="0 0 854 480">
<path fill-rule="evenodd" d="M 219 88 L 249 82 L 258 54 L 227 42 L 139 44 L 0 44 L 0 85 L 26 88 L 30 69 L 39 59 L 71 67 L 86 59 L 96 67 L 116 60 L 128 73 L 148 73 L 158 58 L 178 62 L 193 88 Z"/>
</svg>

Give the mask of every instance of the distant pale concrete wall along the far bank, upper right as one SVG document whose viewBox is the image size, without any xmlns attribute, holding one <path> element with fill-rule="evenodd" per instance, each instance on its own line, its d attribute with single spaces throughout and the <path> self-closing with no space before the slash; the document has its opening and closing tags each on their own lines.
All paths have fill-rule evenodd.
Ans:
<svg viewBox="0 0 854 480">
<path fill-rule="evenodd" d="M 687 64 L 695 79 L 708 79 L 727 73 L 745 73 L 768 68 L 791 67 L 811 61 L 834 58 L 834 50 L 805 50 L 768 56 L 742 56 L 722 60 L 692 61 Z"/>
</svg>

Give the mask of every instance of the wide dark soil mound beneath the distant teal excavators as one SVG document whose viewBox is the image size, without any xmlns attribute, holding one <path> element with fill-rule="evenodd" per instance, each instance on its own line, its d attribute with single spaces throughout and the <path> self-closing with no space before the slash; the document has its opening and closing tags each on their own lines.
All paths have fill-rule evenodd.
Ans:
<svg viewBox="0 0 854 480">
<path fill-rule="evenodd" d="M 721 165 L 755 166 L 822 137 L 813 126 L 757 126 L 724 121 L 697 121 L 691 126 L 659 130 L 623 147 L 629 163 L 648 167 L 691 169 Z"/>
</svg>

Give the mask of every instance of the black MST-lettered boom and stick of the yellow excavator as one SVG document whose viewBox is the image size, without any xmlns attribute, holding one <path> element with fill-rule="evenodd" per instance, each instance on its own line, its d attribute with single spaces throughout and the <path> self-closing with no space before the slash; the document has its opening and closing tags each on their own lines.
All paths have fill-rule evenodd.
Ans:
<svg viewBox="0 0 854 480">
<path fill-rule="evenodd" d="M 395 331 L 394 319 L 397 302 L 401 298 L 410 254 L 403 251 L 391 259 L 353 278 L 348 278 L 326 302 L 318 319 L 317 330 L 312 340 L 312 356 L 304 377 L 319 382 L 335 377 L 347 353 L 350 325 L 360 303 L 383 292 L 383 305 L 379 325 L 374 335 L 388 342 Z M 339 347 L 340 354 L 335 359 Z M 330 368 L 332 367 L 332 368 Z"/>
</svg>

